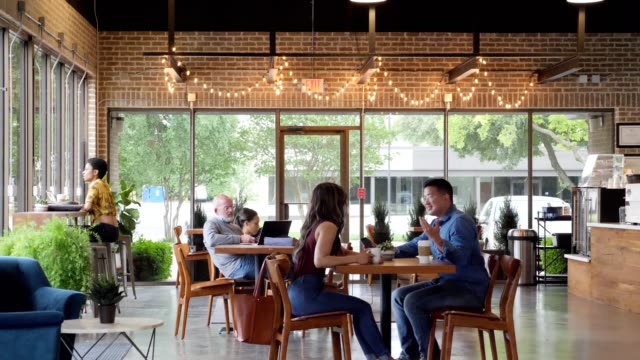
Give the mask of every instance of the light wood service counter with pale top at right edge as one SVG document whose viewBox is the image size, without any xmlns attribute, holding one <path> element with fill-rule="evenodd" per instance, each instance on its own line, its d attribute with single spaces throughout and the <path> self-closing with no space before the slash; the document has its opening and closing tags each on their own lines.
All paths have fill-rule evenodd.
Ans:
<svg viewBox="0 0 640 360">
<path fill-rule="evenodd" d="M 591 256 L 565 255 L 571 294 L 640 313 L 640 226 L 588 223 Z"/>
</svg>

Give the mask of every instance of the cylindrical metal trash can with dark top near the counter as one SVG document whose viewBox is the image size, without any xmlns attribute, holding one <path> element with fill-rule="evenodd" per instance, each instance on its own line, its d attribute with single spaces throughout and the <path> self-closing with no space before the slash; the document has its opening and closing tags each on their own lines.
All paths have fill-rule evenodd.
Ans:
<svg viewBox="0 0 640 360">
<path fill-rule="evenodd" d="M 532 229 L 511 229 L 507 233 L 507 242 L 511 254 L 520 259 L 520 285 L 536 283 L 536 242 L 538 234 Z"/>
</svg>

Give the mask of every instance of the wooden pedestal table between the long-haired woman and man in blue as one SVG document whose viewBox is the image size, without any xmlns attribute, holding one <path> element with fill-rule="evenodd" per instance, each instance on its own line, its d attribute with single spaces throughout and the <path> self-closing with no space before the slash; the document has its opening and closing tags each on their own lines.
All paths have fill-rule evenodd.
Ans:
<svg viewBox="0 0 640 360">
<path fill-rule="evenodd" d="M 391 352 L 391 275 L 393 274 L 446 274 L 455 273 L 455 265 L 434 261 L 418 264 L 417 258 L 393 259 L 382 264 L 349 264 L 336 266 L 340 274 L 380 274 L 380 332 L 385 346 Z"/>
</svg>

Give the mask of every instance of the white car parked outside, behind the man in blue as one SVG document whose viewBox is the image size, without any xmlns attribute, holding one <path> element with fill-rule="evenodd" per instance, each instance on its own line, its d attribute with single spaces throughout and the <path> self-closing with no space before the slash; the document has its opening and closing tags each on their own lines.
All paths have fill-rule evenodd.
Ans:
<svg viewBox="0 0 640 360">
<path fill-rule="evenodd" d="M 478 222 L 482 226 L 482 238 L 486 241 L 485 247 L 487 249 L 494 249 L 497 244 L 494 240 L 493 233 L 496 228 L 496 222 L 500 216 L 500 210 L 504 204 L 506 196 L 496 196 L 484 204 L 482 210 L 478 215 Z M 527 229 L 529 219 L 529 209 L 527 206 L 526 195 L 511 196 L 511 207 L 513 207 L 518 213 L 518 228 Z M 554 206 L 562 207 L 565 213 L 570 212 L 570 205 L 566 201 L 551 196 L 533 196 L 533 222 L 532 229 L 536 232 L 543 232 L 542 226 L 538 229 L 538 221 L 535 219 L 538 216 L 538 212 L 542 211 L 543 207 Z M 542 221 L 541 221 L 541 225 Z M 547 221 L 546 222 L 546 234 L 538 234 L 538 236 L 551 236 L 556 233 L 571 233 L 571 220 L 566 221 Z"/>
</svg>

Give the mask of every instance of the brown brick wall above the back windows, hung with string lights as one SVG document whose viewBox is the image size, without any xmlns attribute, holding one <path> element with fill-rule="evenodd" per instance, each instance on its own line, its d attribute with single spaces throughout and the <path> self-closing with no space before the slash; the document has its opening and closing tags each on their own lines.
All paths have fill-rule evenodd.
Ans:
<svg viewBox="0 0 640 360">
<path fill-rule="evenodd" d="M 440 86 L 442 74 L 464 60 L 464 57 L 385 58 L 384 54 L 402 53 L 470 53 L 471 34 L 458 33 L 379 33 L 377 50 L 383 54 L 382 68 L 387 77 L 378 73 L 375 101 L 363 101 L 361 86 L 350 84 L 340 96 L 336 92 L 359 69 L 367 52 L 367 38 L 363 33 L 320 33 L 315 37 L 315 48 L 309 33 L 278 33 L 277 51 L 282 53 L 360 53 L 361 56 L 340 58 L 294 58 L 286 60 L 288 67 L 282 94 L 275 95 L 262 81 L 268 59 L 264 57 L 191 57 L 180 58 L 191 69 L 192 79 L 198 83 L 177 84 L 170 93 L 164 83 L 163 65 L 158 57 L 145 57 L 144 51 L 165 51 L 165 32 L 104 32 L 100 34 L 101 104 L 98 106 L 98 155 L 106 153 L 108 108 L 188 108 L 187 92 L 195 92 L 198 108 L 422 108 L 442 109 L 441 94 L 454 93 L 452 110 L 499 109 L 497 96 L 505 103 L 515 103 L 524 95 L 531 74 L 555 64 L 575 52 L 575 34 L 481 34 L 480 51 L 483 53 L 535 53 L 536 57 L 487 58 L 480 74 L 480 85 L 475 95 L 463 101 L 456 95 L 457 87 L 469 92 L 474 86 L 471 78 L 456 85 Z M 201 52 L 268 52 L 267 33 L 177 33 L 177 51 Z M 640 116 L 640 35 L 588 34 L 581 74 L 597 74 L 600 83 L 578 83 L 577 76 L 567 76 L 548 84 L 535 85 L 522 100 L 526 109 L 614 109 L 618 122 L 636 121 Z M 285 61 L 278 59 L 276 66 Z M 293 76 L 288 76 L 288 71 Z M 293 78 L 322 78 L 325 80 L 323 96 L 318 100 L 303 94 Z M 389 79 L 393 81 L 388 86 Z M 494 84 L 496 95 L 486 85 Z M 591 77 L 589 78 L 591 80 Z M 255 83 L 260 86 L 248 88 Z M 484 84 L 483 84 L 484 83 Z M 203 84 L 207 85 L 205 89 Z M 395 92 L 395 88 L 399 91 Z M 431 94 L 438 88 L 438 93 Z M 213 93 L 211 92 L 213 90 Z M 370 89 L 371 90 L 371 89 Z M 244 91 L 244 95 L 242 94 Z M 366 92 L 366 91 L 365 91 Z M 409 100 L 405 101 L 400 94 Z M 221 94 L 222 96 L 220 96 Z M 411 105 L 411 100 L 423 100 Z M 426 101 L 429 99 L 430 101 Z M 513 107 L 512 109 L 515 109 Z M 610 133 L 609 133 L 610 134 Z M 607 141 L 602 139 L 602 141 Z M 598 146 L 596 144 L 596 146 Z M 626 150 L 634 152 L 634 150 Z M 638 151 L 640 152 L 640 151 Z"/>
</svg>

